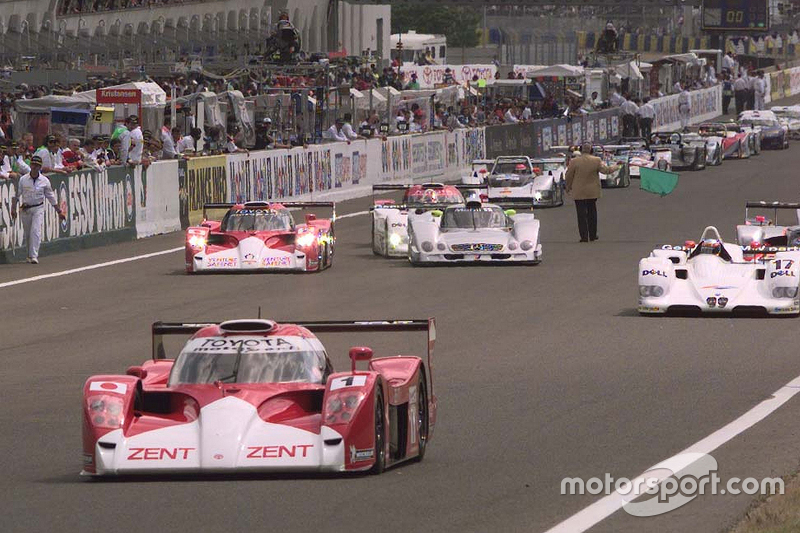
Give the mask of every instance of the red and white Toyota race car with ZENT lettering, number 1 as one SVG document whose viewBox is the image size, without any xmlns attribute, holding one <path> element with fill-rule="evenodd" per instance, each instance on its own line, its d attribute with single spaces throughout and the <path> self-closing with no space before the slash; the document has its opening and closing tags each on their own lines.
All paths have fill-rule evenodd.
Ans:
<svg viewBox="0 0 800 533">
<path fill-rule="evenodd" d="M 350 349 L 334 372 L 315 333 L 425 331 L 427 359 Z M 191 335 L 167 359 L 164 335 Z M 434 320 L 153 324 L 153 358 L 83 387 L 83 474 L 380 473 L 422 460 L 436 421 Z M 366 370 L 357 370 L 357 362 Z"/>
</svg>

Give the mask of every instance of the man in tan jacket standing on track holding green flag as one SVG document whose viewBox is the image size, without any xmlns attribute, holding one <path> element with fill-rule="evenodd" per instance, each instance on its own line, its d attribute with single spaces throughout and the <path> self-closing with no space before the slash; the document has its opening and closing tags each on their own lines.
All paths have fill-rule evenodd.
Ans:
<svg viewBox="0 0 800 533">
<path fill-rule="evenodd" d="M 603 160 L 592 155 L 592 143 L 581 145 L 581 155 L 570 161 L 567 168 L 567 194 L 575 200 L 578 211 L 578 231 L 581 242 L 597 240 L 597 199 L 600 198 L 600 172 L 611 174 L 619 165 L 607 167 Z"/>
</svg>

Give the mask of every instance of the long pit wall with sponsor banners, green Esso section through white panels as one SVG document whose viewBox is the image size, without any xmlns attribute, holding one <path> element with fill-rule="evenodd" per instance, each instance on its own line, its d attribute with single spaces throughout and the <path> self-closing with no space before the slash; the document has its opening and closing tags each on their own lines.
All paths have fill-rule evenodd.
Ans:
<svg viewBox="0 0 800 533">
<path fill-rule="evenodd" d="M 45 207 L 41 253 L 122 242 L 186 228 L 207 202 L 344 200 L 375 183 L 453 180 L 485 157 L 483 128 L 436 131 L 308 148 L 266 150 L 148 168 L 110 167 L 49 176 L 66 220 Z M 0 182 L 0 263 L 27 255 L 10 217 L 14 180 Z"/>
</svg>

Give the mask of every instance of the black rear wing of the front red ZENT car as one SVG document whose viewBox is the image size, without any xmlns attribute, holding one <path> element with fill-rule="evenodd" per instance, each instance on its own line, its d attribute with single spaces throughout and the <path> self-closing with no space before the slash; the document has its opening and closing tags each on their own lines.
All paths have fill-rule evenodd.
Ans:
<svg viewBox="0 0 800 533">
<path fill-rule="evenodd" d="M 390 333 L 390 332 L 411 332 L 426 331 L 428 333 L 428 380 L 433 394 L 433 348 L 436 344 L 436 319 L 414 318 L 406 320 L 315 320 L 307 322 L 284 323 L 295 324 L 306 328 L 312 333 Z M 208 326 L 215 326 L 220 322 L 154 322 L 152 326 L 153 336 L 153 360 L 166 359 L 164 351 L 165 335 L 194 335 L 201 329 Z"/>
</svg>

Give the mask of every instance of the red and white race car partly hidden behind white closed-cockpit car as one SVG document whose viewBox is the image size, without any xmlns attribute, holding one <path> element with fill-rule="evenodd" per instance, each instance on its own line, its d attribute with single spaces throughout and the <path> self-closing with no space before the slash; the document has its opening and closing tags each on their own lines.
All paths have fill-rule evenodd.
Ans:
<svg viewBox="0 0 800 533">
<path fill-rule="evenodd" d="M 376 192 L 405 191 L 401 203 L 375 199 Z M 372 186 L 372 252 L 384 257 L 408 255 L 408 219 L 431 209 L 464 203 L 454 185 L 422 183 L 418 185 L 380 184 Z"/>
</svg>

